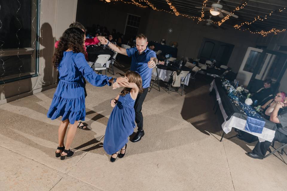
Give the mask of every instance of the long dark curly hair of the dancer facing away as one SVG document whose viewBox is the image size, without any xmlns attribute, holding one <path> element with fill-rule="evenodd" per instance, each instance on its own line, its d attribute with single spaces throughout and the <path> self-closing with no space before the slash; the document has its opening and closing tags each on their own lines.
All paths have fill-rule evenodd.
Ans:
<svg viewBox="0 0 287 191">
<path fill-rule="evenodd" d="M 84 31 L 77 27 L 71 27 L 65 30 L 52 58 L 54 68 L 59 66 L 64 52 L 68 49 L 71 49 L 74 53 L 83 53 L 85 55 L 83 46 L 84 35 Z"/>
</svg>

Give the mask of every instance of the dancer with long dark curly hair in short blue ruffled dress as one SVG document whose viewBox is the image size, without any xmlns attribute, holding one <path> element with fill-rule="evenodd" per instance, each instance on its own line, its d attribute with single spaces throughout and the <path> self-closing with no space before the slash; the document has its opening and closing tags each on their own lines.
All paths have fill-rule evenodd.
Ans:
<svg viewBox="0 0 287 191">
<path fill-rule="evenodd" d="M 77 28 L 71 27 L 65 30 L 60 38 L 58 48 L 53 56 L 53 66 L 59 70 L 59 84 L 54 94 L 51 106 L 48 110 L 47 117 L 56 119 L 62 116 L 59 126 L 59 146 L 56 151 L 56 157 L 71 157 L 74 153 L 70 150 L 71 143 L 74 139 L 79 120 L 85 120 L 85 77 L 94 86 L 109 86 L 113 81 L 125 85 L 128 81 L 124 78 L 112 78 L 104 75 L 98 75 L 88 65 L 85 59 L 85 50 L 83 44 L 85 33 Z M 70 124 L 66 147 L 64 138 L 66 130 Z"/>
</svg>

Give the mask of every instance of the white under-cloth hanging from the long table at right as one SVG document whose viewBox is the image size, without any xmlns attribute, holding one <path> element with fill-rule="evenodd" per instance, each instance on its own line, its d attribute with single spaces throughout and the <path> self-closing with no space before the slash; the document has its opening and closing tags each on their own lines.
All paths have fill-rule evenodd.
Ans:
<svg viewBox="0 0 287 191">
<path fill-rule="evenodd" d="M 255 135 L 258 137 L 259 139 L 259 142 L 263 142 L 263 141 L 269 141 L 269 142 L 272 142 L 273 139 L 274 139 L 274 136 L 275 136 L 275 131 L 274 130 L 271 130 L 271 129 L 268 129 L 268 128 L 265 128 L 263 127 L 263 130 L 262 130 L 262 133 L 254 133 L 254 132 L 249 132 L 249 131 L 246 131 L 245 130 L 245 124 L 246 124 L 246 120 L 245 119 L 241 119 L 239 117 L 236 117 L 236 116 L 231 116 L 227 121 L 226 121 L 226 118 L 228 118 L 227 114 L 225 113 L 225 110 L 222 106 L 222 103 L 221 103 L 221 99 L 220 99 L 220 96 L 219 96 L 219 93 L 218 93 L 218 90 L 217 90 L 217 87 L 216 87 L 216 84 L 215 84 L 215 80 L 213 80 L 210 84 L 210 89 L 209 91 L 211 92 L 212 89 L 214 88 L 215 92 L 216 92 L 216 100 L 218 101 L 219 103 L 219 108 L 221 110 L 221 113 L 223 115 L 223 118 L 224 118 L 224 122 L 223 124 L 221 125 L 222 127 L 222 130 L 227 134 L 231 131 L 232 127 L 236 128 L 236 129 L 239 129 L 239 130 L 242 130 L 246 133 L 249 133 L 251 135 Z"/>
</svg>

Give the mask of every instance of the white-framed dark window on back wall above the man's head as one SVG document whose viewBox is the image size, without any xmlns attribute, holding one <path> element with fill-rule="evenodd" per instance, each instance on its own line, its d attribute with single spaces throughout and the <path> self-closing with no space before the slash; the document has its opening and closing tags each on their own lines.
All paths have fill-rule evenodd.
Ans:
<svg viewBox="0 0 287 191">
<path fill-rule="evenodd" d="M 128 14 L 126 18 L 125 36 L 126 38 L 135 37 L 138 34 L 138 27 L 140 26 L 141 17 Z"/>
</svg>

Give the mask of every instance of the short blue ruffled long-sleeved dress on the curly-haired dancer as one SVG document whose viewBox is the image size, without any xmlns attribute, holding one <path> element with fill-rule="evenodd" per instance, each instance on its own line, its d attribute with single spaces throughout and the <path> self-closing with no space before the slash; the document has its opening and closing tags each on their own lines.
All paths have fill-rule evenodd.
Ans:
<svg viewBox="0 0 287 191">
<path fill-rule="evenodd" d="M 88 65 L 83 53 L 64 52 L 58 67 L 59 84 L 54 94 L 47 117 L 62 121 L 69 119 L 70 124 L 85 120 L 85 92 L 83 76 L 94 86 L 104 86 L 112 77 L 99 75 Z"/>
</svg>

